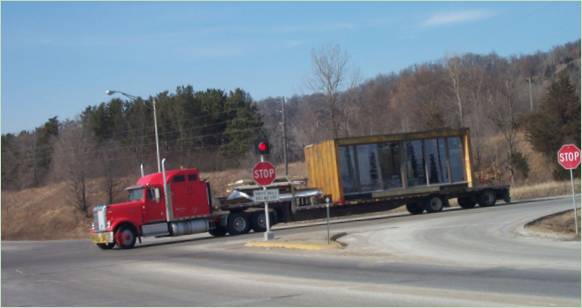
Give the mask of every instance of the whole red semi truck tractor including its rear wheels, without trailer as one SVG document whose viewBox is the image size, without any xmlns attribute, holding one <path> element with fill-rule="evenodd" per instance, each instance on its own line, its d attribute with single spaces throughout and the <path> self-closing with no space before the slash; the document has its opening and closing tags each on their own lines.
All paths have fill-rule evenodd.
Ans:
<svg viewBox="0 0 582 308">
<path fill-rule="evenodd" d="M 126 190 L 126 202 L 93 209 L 92 238 L 102 249 L 132 248 L 143 236 L 224 236 L 266 229 L 264 211 L 252 203 L 231 211 L 213 207 L 210 184 L 196 168 L 145 175 Z M 269 216 L 272 225 L 274 214 Z"/>
</svg>

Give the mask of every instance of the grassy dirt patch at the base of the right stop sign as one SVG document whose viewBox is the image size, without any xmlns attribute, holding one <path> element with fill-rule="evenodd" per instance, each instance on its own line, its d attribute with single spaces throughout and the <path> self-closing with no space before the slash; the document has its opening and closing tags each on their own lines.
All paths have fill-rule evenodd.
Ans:
<svg viewBox="0 0 582 308">
<path fill-rule="evenodd" d="M 538 218 L 525 225 L 528 233 L 564 240 L 580 240 L 580 211 L 577 210 L 578 235 L 576 235 L 574 210 L 567 210 Z"/>
</svg>

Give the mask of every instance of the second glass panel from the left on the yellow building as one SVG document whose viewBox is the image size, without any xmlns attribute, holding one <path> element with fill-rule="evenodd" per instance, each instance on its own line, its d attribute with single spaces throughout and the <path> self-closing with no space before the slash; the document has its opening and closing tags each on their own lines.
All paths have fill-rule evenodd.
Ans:
<svg viewBox="0 0 582 308">
<path fill-rule="evenodd" d="M 360 144 L 356 146 L 360 191 L 382 189 L 382 179 L 378 164 L 378 145 Z"/>
</svg>

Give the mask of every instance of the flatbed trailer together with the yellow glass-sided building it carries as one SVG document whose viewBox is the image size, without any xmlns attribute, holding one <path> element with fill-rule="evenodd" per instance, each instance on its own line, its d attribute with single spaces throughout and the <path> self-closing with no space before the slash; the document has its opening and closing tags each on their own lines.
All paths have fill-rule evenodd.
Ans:
<svg viewBox="0 0 582 308">
<path fill-rule="evenodd" d="M 451 199 L 462 208 L 511 202 L 508 185 L 476 183 L 467 128 L 325 140 L 305 147 L 305 161 L 308 181 L 303 189 L 321 194 L 310 202 L 273 203 L 279 222 L 317 218 L 325 198 L 331 201 L 332 213 L 348 215 L 401 205 L 411 214 L 434 213 L 449 206 Z M 260 188 L 238 184 L 231 189 L 247 196 Z M 283 192 L 294 186 L 290 181 L 273 188 Z"/>
</svg>

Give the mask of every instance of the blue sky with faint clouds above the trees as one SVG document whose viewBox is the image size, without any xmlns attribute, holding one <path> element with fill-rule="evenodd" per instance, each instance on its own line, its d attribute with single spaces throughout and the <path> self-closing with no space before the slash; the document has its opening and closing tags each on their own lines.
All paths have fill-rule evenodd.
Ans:
<svg viewBox="0 0 582 308">
<path fill-rule="evenodd" d="M 309 94 L 311 53 L 339 45 L 361 80 L 467 52 L 580 38 L 579 2 L 6 2 L 2 133 L 73 119 L 108 89 Z"/>
</svg>

